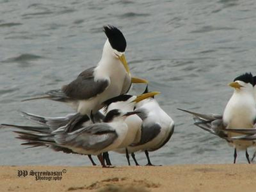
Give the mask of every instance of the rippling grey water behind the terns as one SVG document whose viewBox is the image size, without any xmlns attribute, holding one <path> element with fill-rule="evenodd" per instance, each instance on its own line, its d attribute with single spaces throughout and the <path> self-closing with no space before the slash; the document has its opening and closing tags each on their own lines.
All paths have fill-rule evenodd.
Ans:
<svg viewBox="0 0 256 192">
<path fill-rule="evenodd" d="M 73 112 L 58 102 L 20 100 L 59 88 L 95 66 L 106 40 L 102 26 L 112 24 L 124 32 L 132 74 L 162 93 L 157 100 L 176 123 L 171 140 L 150 153 L 152 162 L 232 163 L 233 149 L 224 140 L 193 126 L 191 116 L 176 108 L 222 113 L 233 92 L 227 84 L 243 72 L 255 74 L 255 10 L 254 0 L 0 0 L 0 122 L 27 124 L 18 110 Z M 132 92 L 143 90 L 134 85 Z M 24 149 L 14 137 L 0 130 L 2 165 L 90 164 L 86 156 Z M 143 153 L 137 157 L 146 163 Z M 124 155 L 111 159 L 126 164 Z M 238 162 L 246 163 L 244 152 Z"/>
</svg>

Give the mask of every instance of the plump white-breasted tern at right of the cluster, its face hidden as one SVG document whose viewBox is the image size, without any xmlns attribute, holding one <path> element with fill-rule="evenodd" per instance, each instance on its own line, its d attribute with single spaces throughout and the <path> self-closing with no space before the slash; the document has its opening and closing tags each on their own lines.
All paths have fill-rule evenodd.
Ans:
<svg viewBox="0 0 256 192">
<path fill-rule="evenodd" d="M 147 92 L 148 86 L 144 93 Z M 139 112 L 137 115 L 141 118 L 142 124 L 138 133 L 138 142 L 129 145 L 127 152 L 132 153 L 135 164 L 139 165 L 134 152 L 144 151 L 148 160 L 146 165 L 152 166 L 148 151 L 156 151 L 170 140 L 174 131 L 174 121 L 159 106 L 154 96 L 136 103 L 134 112 Z M 126 153 L 126 148 L 120 148 L 115 151 Z"/>
</svg>

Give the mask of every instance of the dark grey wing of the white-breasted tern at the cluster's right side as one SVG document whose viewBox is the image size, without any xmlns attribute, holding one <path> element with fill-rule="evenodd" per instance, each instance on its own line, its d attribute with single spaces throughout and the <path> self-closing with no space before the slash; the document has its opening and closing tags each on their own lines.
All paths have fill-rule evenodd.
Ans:
<svg viewBox="0 0 256 192">
<path fill-rule="evenodd" d="M 141 125 L 141 136 L 140 142 L 134 143 L 131 146 L 143 145 L 151 140 L 153 140 L 161 131 L 161 126 L 159 124 L 152 125 Z"/>
</svg>

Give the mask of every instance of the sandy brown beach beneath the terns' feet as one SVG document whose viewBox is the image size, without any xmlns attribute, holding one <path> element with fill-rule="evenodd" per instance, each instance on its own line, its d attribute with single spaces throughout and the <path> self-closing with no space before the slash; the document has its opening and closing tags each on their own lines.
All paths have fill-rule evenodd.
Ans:
<svg viewBox="0 0 256 192">
<path fill-rule="evenodd" d="M 20 172 L 19 172 L 20 170 Z M 24 172 L 25 171 L 25 172 Z M 27 175 L 26 175 L 27 171 Z M 40 172 L 59 176 L 42 176 Z M 41 174 L 41 179 L 38 178 Z M 18 176 L 20 173 L 20 177 Z M 30 175 L 30 173 L 32 175 Z M 33 175 L 34 173 L 34 175 Z M 46 174 L 46 173 L 45 173 Z M 47 173 L 50 174 L 50 173 Z M 59 177 L 59 178 L 57 178 Z M 60 179 L 61 177 L 61 179 Z M 42 179 L 44 178 L 44 179 Z M 38 180 L 36 180 L 38 179 Z M 1 166 L 1 191 L 254 191 L 255 164 L 122 166 Z"/>
</svg>

